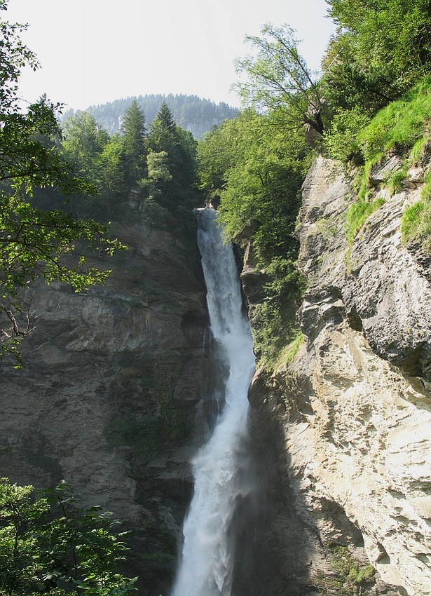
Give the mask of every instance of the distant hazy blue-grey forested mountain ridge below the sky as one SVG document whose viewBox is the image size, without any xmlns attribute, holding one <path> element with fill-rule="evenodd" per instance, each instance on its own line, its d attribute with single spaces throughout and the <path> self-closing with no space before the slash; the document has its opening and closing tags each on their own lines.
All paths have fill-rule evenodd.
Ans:
<svg viewBox="0 0 431 596">
<path fill-rule="evenodd" d="M 218 126 L 228 118 L 238 116 L 239 109 L 224 102 L 216 104 L 211 100 L 202 99 L 197 95 L 139 95 L 126 97 L 114 102 L 107 102 L 97 106 L 90 106 L 85 111 L 95 118 L 109 135 L 121 130 L 123 118 L 132 101 L 136 100 L 144 113 L 147 125 L 156 118 L 160 105 L 165 103 L 172 112 L 175 122 L 184 130 L 189 130 L 193 137 L 200 138 L 213 126 Z M 74 110 L 65 112 L 63 119 L 74 114 Z"/>
</svg>

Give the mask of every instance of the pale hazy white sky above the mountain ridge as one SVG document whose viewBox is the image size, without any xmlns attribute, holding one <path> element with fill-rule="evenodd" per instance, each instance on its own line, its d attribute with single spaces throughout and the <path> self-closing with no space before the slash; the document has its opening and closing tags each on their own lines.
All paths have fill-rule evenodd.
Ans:
<svg viewBox="0 0 431 596">
<path fill-rule="evenodd" d="M 186 93 L 238 105 L 233 61 L 245 35 L 289 23 L 318 69 L 334 25 L 324 0 L 9 0 L 1 17 L 28 23 L 22 40 L 41 69 L 20 94 L 85 109 L 146 93 Z"/>
</svg>

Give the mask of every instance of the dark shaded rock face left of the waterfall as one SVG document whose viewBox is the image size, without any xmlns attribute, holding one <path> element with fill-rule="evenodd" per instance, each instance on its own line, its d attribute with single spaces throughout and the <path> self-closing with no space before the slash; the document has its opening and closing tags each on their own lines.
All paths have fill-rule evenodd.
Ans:
<svg viewBox="0 0 431 596">
<path fill-rule="evenodd" d="M 1 366 L 1 475 L 36 487 L 64 479 L 83 504 L 111 510 L 133 530 L 126 571 L 142 577 L 139 593 L 158 594 L 191 492 L 205 288 L 194 244 L 144 224 L 114 233 L 129 250 L 107 262 L 107 285 L 25 297 L 35 323 L 25 368 Z"/>
</svg>

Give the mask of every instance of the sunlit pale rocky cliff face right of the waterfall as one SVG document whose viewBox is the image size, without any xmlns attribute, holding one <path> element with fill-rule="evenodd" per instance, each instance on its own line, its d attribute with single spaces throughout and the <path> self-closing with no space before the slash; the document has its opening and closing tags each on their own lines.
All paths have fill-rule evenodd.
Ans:
<svg viewBox="0 0 431 596">
<path fill-rule="evenodd" d="M 348 248 L 346 177 L 318 158 L 303 186 L 305 341 L 251 391 L 256 437 L 278 461 L 266 467 L 268 542 L 292 594 L 431 594 L 431 286 L 427 260 L 400 240 L 420 194 L 409 187 Z M 371 562 L 376 583 L 350 555 Z"/>
</svg>

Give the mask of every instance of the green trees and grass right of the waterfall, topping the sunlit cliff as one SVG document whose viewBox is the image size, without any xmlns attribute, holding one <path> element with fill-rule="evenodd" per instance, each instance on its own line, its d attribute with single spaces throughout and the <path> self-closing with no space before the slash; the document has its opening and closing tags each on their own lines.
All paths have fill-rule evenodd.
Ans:
<svg viewBox="0 0 431 596">
<path fill-rule="evenodd" d="M 254 53 L 237 61 L 244 109 L 198 146 L 200 187 L 219 204 L 226 236 L 241 242 L 252 230 L 265 295 L 249 313 L 256 353 L 271 370 L 301 339 L 294 313 L 303 292 L 294 234 L 301 184 L 315 156 L 334 158 L 355 180 L 346 234 L 353 241 L 375 200 L 372 168 L 398 154 L 388 172 L 392 192 L 430 151 L 431 13 L 427 0 L 329 0 L 337 25 L 317 78 L 299 54 L 289 27 L 262 27 L 249 36 Z M 406 211 L 404 242 L 429 250 L 431 173 L 423 200 Z M 250 233 L 248 234 L 250 236 Z M 289 353 L 287 354 L 289 355 Z"/>
</svg>

